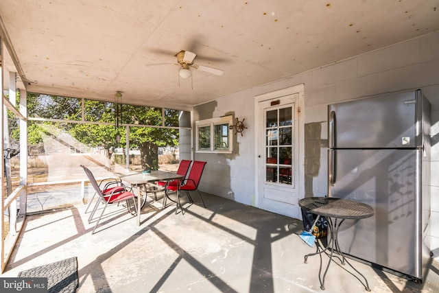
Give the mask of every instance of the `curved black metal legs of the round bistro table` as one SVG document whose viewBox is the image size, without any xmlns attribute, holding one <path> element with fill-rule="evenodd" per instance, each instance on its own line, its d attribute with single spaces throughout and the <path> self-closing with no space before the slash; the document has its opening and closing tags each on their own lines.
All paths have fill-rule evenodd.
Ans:
<svg viewBox="0 0 439 293">
<path fill-rule="evenodd" d="M 357 280 L 361 283 L 361 285 L 364 285 L 364 288 L 366 289 L 366 291 L 370 292 L 369 283 L 368 283 L 368 280 L 366 279 L 366 277 L 364 277 L 364 275 L 361 274 L 361 272 L 359 272 L 356 268 L 354 268 L 351 265 L 351 263 L 349 263 L 349 261 L 346 259 L 346 257 L 344 257 L 344 254 L 340 250 L 340 247 L 338 246 L 338 241 L 337 241 L 338 228 L 340 228 L 340 225 L 342 224 L 344 219 L 335 218 L 334 221 L 331 220 L 331 218 L 329 218 L 329 217 L 327 217 L 327 219 L 328 219 L 328 226 L 329 226 L 329 229 L 331 231 L 330 235 L 328 235 L 328 237 L 330 237 L 330 238 L 329 238 L 329 242 L 327 243 L 327 246 L 324 247 L 319 239 L 318 243 L 316 245 L 316 247 L 317 247 L 316 253 L 309 253 L 308 255 L 305 255 L 305 263 L 307 263 L 308 257 L 311 257 L 313 255 L 320 256 L 320 268 L 318 271 L 318 279 L 320 281 L 320 289 L 322 289 L 322 290 L 325 289 L 324 288 L 324 279 L 327 276 L 329 265 L 331 264 L 332 261 L 334 261 L 338 266 L 340 266 L 340 268 L 342 268 L 343 270 L 346 270 L 346 272 L 352 274 L 355 278 L 357 278 Z M 337 220 L 340 220 L 340 222 L 337 223 Z M 324 253 L 325 255 L 327 255 L 329 257 L 329 261 L 328 261 L 326 269 L 323 272 L 323 275 L 322 275 L 322 264 L 323 264 L 322 253 Z M 334 257 L 336 259 L 338 259 L 340 261 L 340 263 L 337 263 L 337 261 L 335 261 Z M 361 276 L 364 279 L 365 283 L 363 281 L 361 281 L 359 276 L 355 275 L 353 272 L 346 269 L 346 267 L 344 266 L 346 263 L 349 266 L 351 266 L 351 268 L 353 268 L 353 270 L 355 270 L 355 272 L 357 272 L 357 274 L 359 274 L 359 276 Z"/>
</svg>

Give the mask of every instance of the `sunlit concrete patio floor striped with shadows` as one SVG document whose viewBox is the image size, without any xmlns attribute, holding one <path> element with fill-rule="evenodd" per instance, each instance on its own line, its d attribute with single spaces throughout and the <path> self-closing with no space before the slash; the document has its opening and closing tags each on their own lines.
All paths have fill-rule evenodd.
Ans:
<svg viewBox="0 0 439 293">
<path fill-rule="evenodd" d="M 184 215 L 161 209 L 160 198 L 146 204 L 140 226 L 126 208 L 108 207 L 94 235 L 86 206 L 28 215 L 1 277 L 77 257 L 76 292 L 366 292 L 335 263 L 320 290 L 320 259 L 304 263 L 315 248 L 298 237 L 299 220 L 203 195 L 207 208 L 194 195 Z M 350 262 L 372 292 L 439 292 L 438 261 L 422 284 Z"/>
</svg>

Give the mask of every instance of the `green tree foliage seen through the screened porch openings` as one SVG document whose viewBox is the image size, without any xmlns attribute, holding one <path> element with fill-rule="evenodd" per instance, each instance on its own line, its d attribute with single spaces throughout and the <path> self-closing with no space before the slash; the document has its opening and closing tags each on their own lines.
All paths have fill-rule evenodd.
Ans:
<svg viewBox="0 0 439 293">
<path fill-rule="evenodd" d="M 159 146 L 178 145 L 178 110 L 165 109 L 163 117 L 161 108 L 123 104 L 120 110 L 116 110 L 115 103 L 84 99 L 82 121 L 82 99 L 28 93 L 27 106 L 29 117 L 50 119 L 29 121 L 29 145 L 42 142 L 43 134 L 58 137 L 60 134 L 51 133 L 52 128 L 47 127 L 51 125 L 88 147 L 104 148 L 110 157 L 115 148 L 126 145 L 126 127 L 121 124 L 129 124 L 130 149 L 137 148 L 141 151 L 144 169 L 158 168 Z M 53 119 L 69 120 L 71 123 Z M 117 137 L 120 139 L 117 140 Z"/>
</svg>

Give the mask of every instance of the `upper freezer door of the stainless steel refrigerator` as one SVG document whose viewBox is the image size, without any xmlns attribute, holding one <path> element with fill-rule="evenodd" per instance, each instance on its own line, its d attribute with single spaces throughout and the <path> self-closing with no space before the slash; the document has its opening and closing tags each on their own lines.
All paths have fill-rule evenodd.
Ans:
<svg viewBox="0 0 439 293">
<path fill-rule="evenodd" d="M 329 148 L 420 148 L 422 101 L 418 90 L 329 105 Z"/>
</svg>

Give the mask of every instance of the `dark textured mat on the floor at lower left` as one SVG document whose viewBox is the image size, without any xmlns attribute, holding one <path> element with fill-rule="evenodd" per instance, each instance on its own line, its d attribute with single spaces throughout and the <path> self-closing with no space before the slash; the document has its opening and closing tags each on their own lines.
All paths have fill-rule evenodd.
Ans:
<svg viewBox="0 0 439 293">
<path fill-rule="evenodd" d="M 78 260 L 76 257 L 38 266 L 19 272 L 23 278 L 47 278 L 48 293 L 70 293 L 78 288 Z"/>
</svg>

